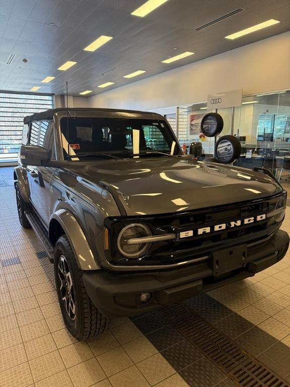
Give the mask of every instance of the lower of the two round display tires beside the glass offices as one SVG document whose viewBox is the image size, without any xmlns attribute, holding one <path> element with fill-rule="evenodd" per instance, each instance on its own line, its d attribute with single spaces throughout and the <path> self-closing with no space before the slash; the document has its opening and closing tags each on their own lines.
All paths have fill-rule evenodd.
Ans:
<svg viewBox="0 0 290 387">
<path fill-rule="evenodd" d="M 215 158 L 222 164 L 230 164 L 241 156 L 241 143 L 235 136 L 223 136 L 215 144 Z"/>
</svg>

